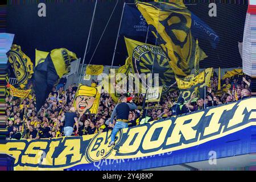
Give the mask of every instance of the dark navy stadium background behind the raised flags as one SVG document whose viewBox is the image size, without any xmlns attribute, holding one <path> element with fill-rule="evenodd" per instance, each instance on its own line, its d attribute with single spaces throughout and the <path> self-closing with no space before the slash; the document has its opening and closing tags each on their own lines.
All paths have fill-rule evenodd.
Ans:
<svg viewBox="0 0 256 182">
<path fill-rule="evenodd" d="M 85 63 L 89 63 L 92 57 L 115 2 L 98 2 Z M 46 3 L 45 18 L 39 18 L 37 6 L 37 3 L 8 6 L 7 32 L 15 34 L 14 43 L 20 45 L 32 61 L 35 60 L 35 48 L 51 51 L 54 48 L 64 47 L 82 58 L 93 15 L 93 1 Z M 119 1 L 91 64 L 111 65 L 122 8 L 123 1 Z M 238 41 L 242 42 L 247 5 L 217 4 L 217 17 L 209 17 L 208 3 L 188 5 L 188 9 L 207 23 L 220 37 L 217 49 L 210 47 L 209 42 L 199 42 L 199 46 L 208 55 L 207 59 L 201 61 L 200 68 L 242 67 Z M 124 40 L 119 38 L 114 65 L 123 65 L 126 55 Z"/>
</svg>

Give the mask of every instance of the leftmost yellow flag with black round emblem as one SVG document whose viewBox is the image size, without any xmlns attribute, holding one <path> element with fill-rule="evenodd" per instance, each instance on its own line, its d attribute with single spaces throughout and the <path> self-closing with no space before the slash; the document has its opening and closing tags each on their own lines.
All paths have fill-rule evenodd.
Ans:
<svg viewBox="0 0 256 182">
<path fill-rule="evenodd" d="M 32 77 L 33 63 L 20 46 L 13 44 L 10 51 L 6 53 L 9 63 L 13 68 L 15 76 L 18 80 L 18 85 L 21 89 L 25 88 L 28 80 Z"/>
</svg>

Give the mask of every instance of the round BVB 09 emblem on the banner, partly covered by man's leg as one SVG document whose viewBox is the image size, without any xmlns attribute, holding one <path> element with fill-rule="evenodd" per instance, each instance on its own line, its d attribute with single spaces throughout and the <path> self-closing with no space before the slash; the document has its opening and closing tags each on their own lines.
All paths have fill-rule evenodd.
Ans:
<svg viewBox="0 0 256 182">
<path fill-rule="evenodd" d="M 122 138 L 122 130 L 119 130 L 115 136 L 115 145 L 117 145 Z M 101 159 L 107 158 L 113 151 L 113 147 L 108 147 L 111 131 L 98 133 L 91 140 L 85 151 L 85 158 L 88 162 L 93 163 Z"/>
</svg>

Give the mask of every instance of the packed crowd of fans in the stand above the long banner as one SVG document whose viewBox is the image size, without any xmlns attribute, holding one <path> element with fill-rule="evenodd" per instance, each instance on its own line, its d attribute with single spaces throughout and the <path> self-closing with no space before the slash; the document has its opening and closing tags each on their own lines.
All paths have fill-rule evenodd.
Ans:
<svg viewBox="0 0 256 182">
<path fill-rule="evenodd" d="M 188 101 L 179 97 L 179 90 L 164 94 L 159 103 L 148 103 L 146 106 L 146 118 L 139 120 L 141 107 L 130 111 L 129 127 L 143 125 L 145 122 L 155 121 L 161 118 L 189 113 L 205 107 L 217 106 L 229 102 L 241 100 L 251 96 L 249 76 L 233 76 L 225 78 L 218 90 L 218 77 L 215 74 L 210 80 L 210 87 L 205 90 L 204 98 L 191 96 Z M 96 82 L 92 82 L 96 86 Z M 40 110 L 39 115 L 35 109 L 35 94 L 21 100 L 11 96 L 6 97 L 6 125 L 10 139 L 39 139 L 56 138 L 64 136 L 64 114 L 73 106 L 77 85 L 73 84 L 65 88 L 65 80 L 52 89 L 47 101 Z M 109 122 L 115 103 L 108 93 L 102 89 L 100 106 L 95 115 L 77 115 L 79 129 L 76 133 L 76 125 L 72 135 L 90 135 L 113 130 L 114 123 Z M 137 106 L 142 106 L 142 94 L 130 94 Z M 178 99 L 179 98 L 179 99 Z"/>
</svg>

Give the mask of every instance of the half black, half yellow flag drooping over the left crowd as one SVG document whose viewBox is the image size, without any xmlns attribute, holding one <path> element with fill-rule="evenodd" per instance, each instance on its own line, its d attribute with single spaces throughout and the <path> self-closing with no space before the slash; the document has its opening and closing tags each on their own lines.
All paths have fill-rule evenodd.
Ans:
<svg viewBox="0 0 256 182">
<path fill-rule="evenodd" d="M 34 90 L 36 94 L 36 110 L 39 111 L 54 85 L 70 71 L 71 60 L 76 54 L 65 48 L 53 49 L 46 60 L 38 64 L 34 73 Z"/>
</svg>

